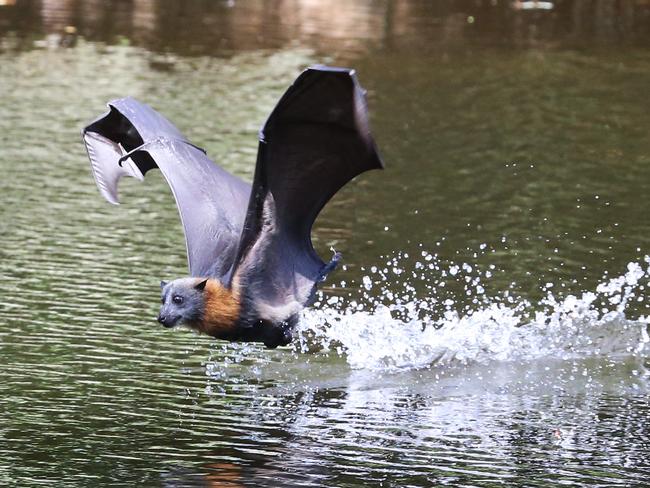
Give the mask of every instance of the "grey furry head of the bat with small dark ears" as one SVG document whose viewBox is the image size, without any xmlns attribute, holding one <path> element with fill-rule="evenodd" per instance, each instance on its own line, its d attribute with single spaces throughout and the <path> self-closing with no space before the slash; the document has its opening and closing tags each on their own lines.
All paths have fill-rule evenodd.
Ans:
<svg viewBox="0 0 650 488">
<path fill-rule="evenodd" d="M 161 281 L 162 305 L 158 322 L 165 327 L 174 327 L 183 322 L 200 320 L 205 308 L 203 290 L 207 281 L 202 278 Z"/>
</svg>

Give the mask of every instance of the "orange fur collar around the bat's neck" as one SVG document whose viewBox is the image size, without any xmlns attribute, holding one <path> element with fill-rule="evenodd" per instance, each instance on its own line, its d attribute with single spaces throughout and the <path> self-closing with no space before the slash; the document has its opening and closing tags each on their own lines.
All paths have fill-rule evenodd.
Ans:
<svg viewBox="0 0 650 488">
<path fill-rule="evenodd" d="M 240 303 L 233 293 L 219 281 L 209 279 L 203 291 L 205 310 L 196 328 L 212 337 L 224 338 L 234 331 L 239 319 Z"/>
</svg>

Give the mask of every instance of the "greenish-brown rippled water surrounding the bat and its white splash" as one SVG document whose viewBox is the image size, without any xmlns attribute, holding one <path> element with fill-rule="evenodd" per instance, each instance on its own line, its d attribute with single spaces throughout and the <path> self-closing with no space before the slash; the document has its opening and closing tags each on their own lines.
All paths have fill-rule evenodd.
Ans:
<svg viewBox="0 0 650 488">
<path fill-rule="evenodd" d="M 478 362 L 389 372 L 347 364 L 370 340 L 306 354 L 161 331 L 157 283 L 186 273 L 171 194 L 148 175 L 108 206 L 80 143 L 132 95 L 250 178 L 256 132 L 300 70 L 354 67 L 387 168 L 319 219 L 317 247 L 346 263 L 327 295 L 390 304 L 409 282 L 404 300 L 434 317 L 506 293 L 551 317 L 547 284 L 558 300 L 594 291 L 650 249 L 650 4 L 528 5 L 0 2 L 0 480 L 642 485 L 647 352 L 603 356 L 598 340 L 648 314 L 645 285 L 613 329 L 586 320 L 589 354 L 541 359 L 483 344 Z M 412 278 L 422 251 L 440 269 Z M 395 253 L 393 295 L 364 298 Z M 490 271 L 483 301 L 441 272 L 462 263 Z M 401 322 L 370 320 L 404 341 Z"/>
</svg>

